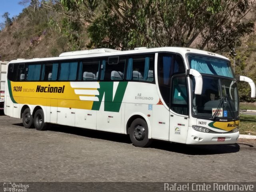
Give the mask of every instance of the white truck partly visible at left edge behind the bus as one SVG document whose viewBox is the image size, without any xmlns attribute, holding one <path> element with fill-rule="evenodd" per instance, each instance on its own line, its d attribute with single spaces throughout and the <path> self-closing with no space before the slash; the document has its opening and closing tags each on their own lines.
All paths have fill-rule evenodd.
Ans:
<svg viewBox="0 0 256 192">
<path fill-rule="evenodd" d="M 0 110 L 4 109 L 4 92 L 8 61 L 0 61 Z"/>
</svg>

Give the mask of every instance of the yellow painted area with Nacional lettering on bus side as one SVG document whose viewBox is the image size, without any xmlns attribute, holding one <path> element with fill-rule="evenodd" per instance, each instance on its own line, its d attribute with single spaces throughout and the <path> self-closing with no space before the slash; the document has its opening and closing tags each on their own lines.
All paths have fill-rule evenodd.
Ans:
<svg viewBox="0 0 256 192">
<path fill-rule="evenodd" d="M 72 88 L 70 82 L 22 82 L 22 87 L 20 84 L 20 82 L 11 82 L 12 96 L 19 104 L 92 109 L 93 101 L 80 100 L 80 96 L 89 95 L 75 94 L 74 90 L 77 88 Z M 97 88 L 84 88 L 84 90 L 97 90 Z"/>
</svg>

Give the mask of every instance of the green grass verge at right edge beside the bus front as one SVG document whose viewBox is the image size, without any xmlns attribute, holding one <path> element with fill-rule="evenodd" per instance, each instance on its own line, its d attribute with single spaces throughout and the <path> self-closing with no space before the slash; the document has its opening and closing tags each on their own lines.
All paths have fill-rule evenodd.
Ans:
<svg viewBox="0 0 256 192">
<path fill-rule="evenodd" d="M 240 134 L 248 135 L 248 131 L 256 132 L 256 115 L 240 114 L 239 132 Z M 250 134 L 256 135 L 253 133 Z"/>
</svg>

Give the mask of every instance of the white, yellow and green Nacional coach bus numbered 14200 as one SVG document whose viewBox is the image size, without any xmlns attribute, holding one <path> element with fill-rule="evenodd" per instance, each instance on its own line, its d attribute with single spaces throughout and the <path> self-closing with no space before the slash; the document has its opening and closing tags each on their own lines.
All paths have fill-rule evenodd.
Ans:
<svg viewBox="0 0 256 192">
<path fill-rule="evenodd" d="M 237 81 L 228 58 L 191 48 L 66 52 L 8 64 L 7 116 L 24 127 L 47 124 L 129 134 L 134 146 L 152 139 L 232 144 L 239 136 Z"/>
</svg>

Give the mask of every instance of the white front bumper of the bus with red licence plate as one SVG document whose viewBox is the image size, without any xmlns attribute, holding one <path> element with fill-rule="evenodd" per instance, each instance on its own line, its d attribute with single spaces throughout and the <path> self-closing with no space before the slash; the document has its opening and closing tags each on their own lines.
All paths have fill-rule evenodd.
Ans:
<svg viewBox="0 0 256 192">
<path fill-rule="evenodd" d="M 204 133 L 188 127 L 186 144 L 234 144 L 238 140 L 239 132 L 236 133 Z M 218 141 L 219 140 L 221 141 Z M 223 139 L 220 138 L 225 138 Z"/>
</svg>

